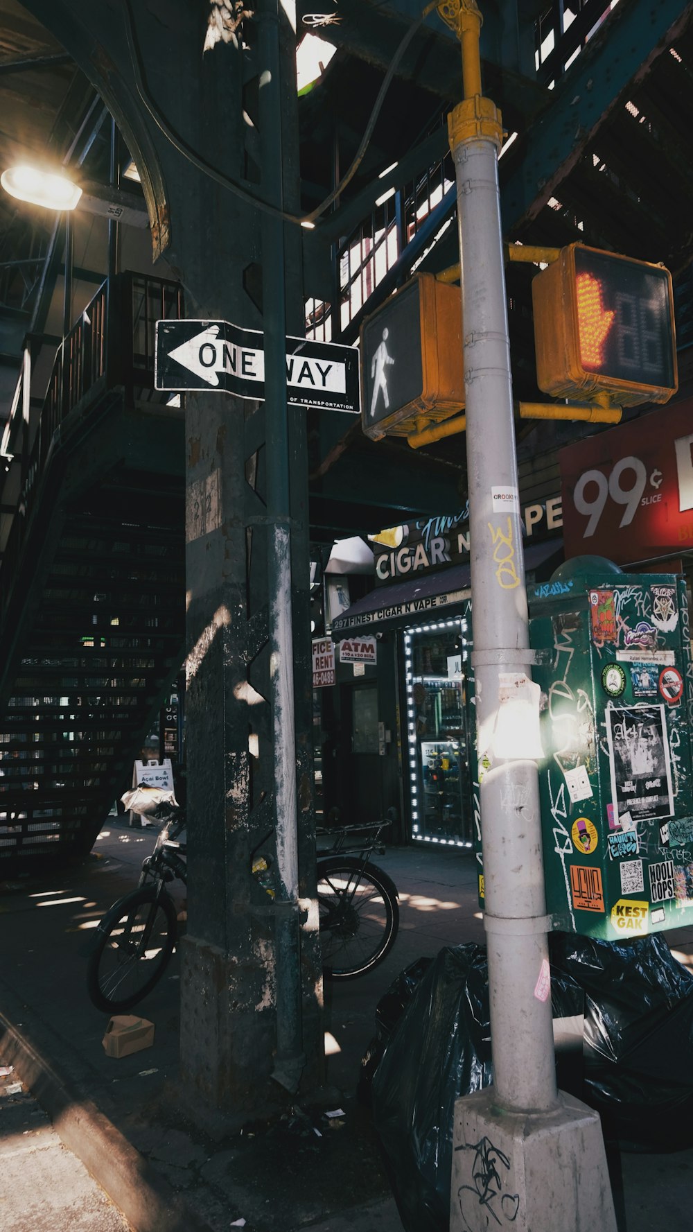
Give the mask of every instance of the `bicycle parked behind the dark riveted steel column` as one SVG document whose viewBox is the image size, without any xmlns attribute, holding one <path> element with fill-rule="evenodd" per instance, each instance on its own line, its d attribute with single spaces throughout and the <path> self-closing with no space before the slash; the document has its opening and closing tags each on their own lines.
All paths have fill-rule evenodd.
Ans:
<svg viewBox="0 0 693 1232">
<path fill-rule="evenodd" d="M 154 851 L 142 865 L 137 890 L 119 898 L 100 922 L 86 968 L 92 1004 L 108 1014 L 132 1009 L 164 975 L 174 954 L 178 922 L 167 886 L 175 878 L 187 885 L 183 856 L 177 841 L 186 825 L 185 811 L 160 803 L 146 816 L 162 822 Z M 369 825 L 343 825 L 318 830 L 334 839 L 319 853 L 318 904 L 326 979 L 355 979 L 366 975 L 390 952 L 399 928 L 398 891 L 393 880 L 371 864 L 373 851 L 389 821 Z M 345 846 L 346 835 L 363 838 Z M 355 857 L 358 854 L 358 859 Z M 368 865 L 368 869 L 367 869 Z"/>
</svg>

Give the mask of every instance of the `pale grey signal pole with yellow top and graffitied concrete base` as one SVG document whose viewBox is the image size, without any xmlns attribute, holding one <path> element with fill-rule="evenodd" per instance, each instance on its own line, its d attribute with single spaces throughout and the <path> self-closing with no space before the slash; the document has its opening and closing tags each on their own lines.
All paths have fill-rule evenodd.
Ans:
<svg viewBox="0 0 693 1232">
<path fill-rule="evenodd" d="M 615 1227 L 598 1116 L 556 1093 L 539 785 L 527 742 L 531 681 L 497 155 L 501 117 L 481 96 L 474 0 L 441 16 L 462 42 L 464 102 L 448 117 L 462 265 L 471 602 L 494 1087 L 458 1100 L 451 1230 L 489 1226 L 479 1152 L 494 1152 L 513 1227 Z M 489 446 L 492 442 L 492 446 Z M 506 731 L 512 699 L 521 728 Z M 502 743 L 501 743 L 502 733 Z M 556 1143 L 556 1136 L 560 1142 Z M 487 1152 L 486 1152 L 487 1153 Z M 574 1184 L 567 1180 L 574 1178 Z M 565 1188 L 571 1194 L 564 1204 Z"/>
</svg>

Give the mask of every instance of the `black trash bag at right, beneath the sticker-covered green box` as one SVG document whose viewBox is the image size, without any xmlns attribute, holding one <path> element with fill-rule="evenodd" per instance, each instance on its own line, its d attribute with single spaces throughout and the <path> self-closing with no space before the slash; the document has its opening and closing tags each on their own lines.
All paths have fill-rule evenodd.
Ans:
<svg viewBox="0 0 693 1232">
<path fill-rule="evenodd" d="M 585 989 L 583 1099 L 622 1148 L 693 1145 L 693 975 L 661 934 L 555 934 L 551 961 Z"/>
</svg>

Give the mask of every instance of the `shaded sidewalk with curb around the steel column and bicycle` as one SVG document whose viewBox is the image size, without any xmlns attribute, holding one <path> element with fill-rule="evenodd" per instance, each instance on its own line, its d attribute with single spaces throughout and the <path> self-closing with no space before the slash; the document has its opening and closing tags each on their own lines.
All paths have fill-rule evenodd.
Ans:
<svg viewBox="0 0 693 1232">
<path fill-rule="evenodd" d="M 271 1130 L 231 1135 L 220 1119 L 202 1131 L 176 1109 L 175 958 L 137 1008 L 156 1025 L 146 1051 L 106 1057 L 107 1016 L 86 997 L 85 941 L 111 902 L 135 883 L 153 841 L 150 830 L 110 817 L 96 855 L 79 870 L 0 887 L 2 1062 L 15 1066 L 63 1142 L 137 1232 L 403 1232 L 369 1114 L 356 1101 L 359 1061 L 375 1004 L 403 967 L 446 944 L 484 942 L 471 856 L 415 846 L 378 857 L 400 891 L 400 933 L 374 972 L 326 986 L 334 1098 L 326 1109 L 308 1109 L 299 1098 Z M 682 955 L 693 954 L 689 936 L 668 940 Z M 343 1115 L 324 1115 L 338 1109 Z M 619 1232 L 688 1232 L 693 1152 L 614 1156 L 611 1167 Z M 44 1226 L 55 1227 L 50 1217 Z"/>
</svg>

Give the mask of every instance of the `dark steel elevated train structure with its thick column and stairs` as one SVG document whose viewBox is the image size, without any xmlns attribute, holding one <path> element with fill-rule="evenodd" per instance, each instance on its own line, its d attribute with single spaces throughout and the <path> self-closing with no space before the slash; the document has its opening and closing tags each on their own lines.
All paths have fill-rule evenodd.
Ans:
<svg viewBox="0 0 693 1232">
<path fill-rule="evenodd" d="M 322 23 L 336 54 L 297 96 L 294 34 L 270 2 L 234 28 L 224 6 L 182 0 L 2 10 L 14 128 L 0 154 L 23 149 L 22 102 L 42 100 L 28 144 L 84 180 L 92 213 L 53 224 L 4 202 L 0 744 L 10 753 L 18 739 L 31 755 L 18 792 L 14 772 L 0 780 L 0 860 L 89 849 L 187 653 L 186 1082 L 256 1112 L 277 1040 L 277 1082 L 290 1089 L 305 1067 L 316 1084 L 320 1071 L 319 938 L 300 908 L 315 896 L 311 545 L 457 513 L 467 493 L 462 436 L 412 455 L 366 440 L 356 419 L 287 408 L 281 335 L 353 342 L 414 269 L 454 264 L 444 116 L 462 94 L 459 48 L 431 14 L 396 59 L 410 6 L 345 0 L 342 20 Z M 668 262 L 686 345 L 689 6 L 590 0 L 574 17 L 507 4 L 484 28 L 485 91 L 508 132 L 505 238 Z M 263 89 L 270 65 L 278 97 Z M 383 110 L 343 184 L 388 65 Z M 533 272 L 508 274 L 515 394 L 529 402 Z M 160 315 L 262 329 L 265 404 L 209 389 L 177 408 L 156 394 Z M 522 428 L 521 482 L 535 499 L 559 446 L 583 431 Z M 290 699 L 277 673 L 287 655 Z M 250 872 L 263 841 L 272 904 Z M 279 987 L 283 960 L 295 975 L 297 929 L 300 987 Z"/>
</svg>

